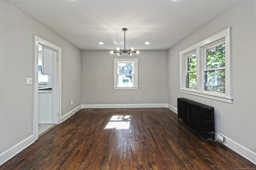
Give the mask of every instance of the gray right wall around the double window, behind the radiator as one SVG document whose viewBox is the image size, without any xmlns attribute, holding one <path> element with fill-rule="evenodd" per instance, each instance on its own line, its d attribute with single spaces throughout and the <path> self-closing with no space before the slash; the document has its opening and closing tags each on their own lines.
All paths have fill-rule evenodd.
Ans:
<svg viewBox="0 0 256 170">
<path fill-rule="evenodd" d="M 231 59 L 233 104 L 180 93 L 179 52 L 228 27 L 232 27 Z M 256 1 L 242 0 L 168 51 L 168 104 L 177 108 L 177 98 L 214 106 L 216 131 L 256 152 L 255 96 Z"/>
</svg>

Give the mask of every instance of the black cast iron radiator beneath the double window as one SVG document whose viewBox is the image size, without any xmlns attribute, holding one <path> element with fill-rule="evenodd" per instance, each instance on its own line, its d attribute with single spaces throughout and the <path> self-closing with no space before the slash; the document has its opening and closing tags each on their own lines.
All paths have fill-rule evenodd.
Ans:
<svg viewBox="0 0 256 170">
<path fill-rule="evenodd" d="M 214 141 L 214 107 L 200 104 L 186 98 L 178 98 L 178 120 L 196 129 L 205 139 Z"/>
</svg>

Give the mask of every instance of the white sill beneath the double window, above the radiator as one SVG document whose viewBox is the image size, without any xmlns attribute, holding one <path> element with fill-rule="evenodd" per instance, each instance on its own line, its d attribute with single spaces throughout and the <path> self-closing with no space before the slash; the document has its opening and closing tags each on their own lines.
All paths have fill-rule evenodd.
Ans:
<svg viewBox="0 0 256 170">
<path fill-rule="evenodd" d="M 195 95 L 195 96 L 200 96 L 200 97 L 203 97 L 203 98 L 218 100 L 218 101 L 226 102 L 226 103 L 229 103 L 229 104 L 232 104 L 232 101 L 233 101 L 233 98 L 229 98 L 229 97 L 221 96 L 221 95 L 217 96 L 217 95 L 214 95 L 214 94 L 205 94 L 205 93 L 200 93 L 200 92 L 196 92 L 196 91 L 189 91 L 189 90 L 184 90 L 184 89 L 180 89 L 180 92 L 186 93 L 186 94 L 192 94 L 192 95 Z"/>
</svg>

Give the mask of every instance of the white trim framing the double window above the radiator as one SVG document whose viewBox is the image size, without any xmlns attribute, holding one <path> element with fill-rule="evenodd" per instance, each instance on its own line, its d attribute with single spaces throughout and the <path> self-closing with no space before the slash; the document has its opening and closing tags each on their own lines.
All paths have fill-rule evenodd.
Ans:
<svg viewBox="0 0 256 170">
<path fill-rule="evenodd" d="M 180 51 L 180 92 L 192 94 L 195 96 L 201 96 L 204 98 L 210 98 L 226 103 L 232 104 L 232 80 L 231 80 L 231 55 L 230 55 L 230 31 L 231 27 L 207 38 L 203 41 L 200 41 L 199 43 L 196 43 L 195 45 L 192 45 L 188 47 L 187 49 L 184 49 Z M 203 80 L 204 80 L 204 73 L 203 73 L 203 50 L 207 45 L 210 45 L 211 43 L 214 43 L 215 41 L 218 41 L 220 39 L 225 39 L 225 94 L 217 93 L 217 92 L 208 92 L 204 90 Z M 186 57 L 184 57 L 187 53 L 190 53 L 192 51 L 196 50 L 196 67 L 197 67 L 197 73 L 196 73 L 196 89 L 190 89 L 186 88 Z"/>
</svg>

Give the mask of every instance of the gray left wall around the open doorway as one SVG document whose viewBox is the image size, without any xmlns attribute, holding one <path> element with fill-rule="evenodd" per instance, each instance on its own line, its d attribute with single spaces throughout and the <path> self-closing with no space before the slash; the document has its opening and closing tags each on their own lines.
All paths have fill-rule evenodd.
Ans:
<svg viewBox="0 0 256 170">
<path fill-rule="evenodd" d="M 62 48 L 62 115 L 81 104 L 81 51 L 0 0 L 0 154 L 33 134 L 33 35 Z"/>
</svg>

